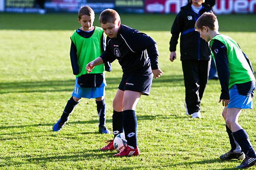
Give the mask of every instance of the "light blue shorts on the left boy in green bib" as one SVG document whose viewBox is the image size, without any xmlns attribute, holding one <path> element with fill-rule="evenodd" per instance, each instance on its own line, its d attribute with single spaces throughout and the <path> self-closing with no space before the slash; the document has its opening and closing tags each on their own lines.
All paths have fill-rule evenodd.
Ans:
<svg viewBox="0 0 256 170">
<path fill-rule="evenodd" d="M 76 83 L 74 91 L 72 92 L 72 96 L 76 98 L 100 98 L 102 96 L 105 96 L 105 86 L 106 86 L 106 80 L 104 78 L 102 84 L 100 87 L 96 88 L 81 88 L 79 84 L 77 83 L 77 77 L 76 77 Z"/>
</svg>

